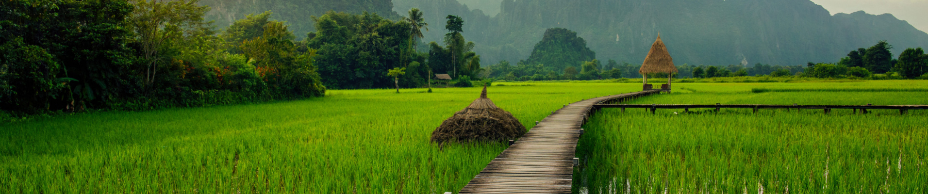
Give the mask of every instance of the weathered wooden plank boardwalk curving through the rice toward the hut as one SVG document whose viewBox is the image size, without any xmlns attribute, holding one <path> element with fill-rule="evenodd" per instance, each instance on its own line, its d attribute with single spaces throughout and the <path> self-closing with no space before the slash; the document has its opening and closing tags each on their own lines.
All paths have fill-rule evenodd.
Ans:
<svg viewBox="0 0 928 194">
<path fill-rule="evenodd" d="M 555 111 L 496 156 L 458 193 L 571 193 L 574 151 L 593 105 L 659 92 L 596 97 Z"/>
</svg>

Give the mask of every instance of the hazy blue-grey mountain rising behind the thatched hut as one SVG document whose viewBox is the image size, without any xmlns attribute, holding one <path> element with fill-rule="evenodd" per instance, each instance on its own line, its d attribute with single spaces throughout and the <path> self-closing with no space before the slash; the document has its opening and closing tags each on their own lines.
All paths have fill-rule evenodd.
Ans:
<svg viewBox="0 0 928 194">
<path fill-rule="evenodd" d="M 639 63 L 661 32 L 678 64 L 780 65 L 837 62 L 848 50 L 886 40 L 896 55 L 928 46 L 928 33 L 892 15 L 831 16 L 808 0 L 502 0 L 500 13 L 480 16 L 455 0 L 394 0 L 394 10 L 422 8 L 427 19 L 460 14 L 483 59 L 528 58 L 548 28 L 578 33 L 600 59 Z M 467 15 L 470 13 L 470 15 Z M 480 22 L 486 17 L 489 21 Z M 427 32 L 426 41 L 441 32 Z"/>
</svg>

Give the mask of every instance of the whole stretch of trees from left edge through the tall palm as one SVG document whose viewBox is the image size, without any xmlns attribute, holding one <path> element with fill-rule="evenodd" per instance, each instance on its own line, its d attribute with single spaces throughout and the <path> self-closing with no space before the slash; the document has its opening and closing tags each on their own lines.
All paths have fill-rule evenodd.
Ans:
<svg viewBox="0 0 928 194">
<path fill-rule="evenodd" d="M 416 8 L 396 20 L 329 11 L 312 17 L 317 31 L 303 37 L 270 11 L 217 32 L 203 19 L 210 7 L 198 3 L 0 2 L 0 108 L 196 107 L 320 97 L 324 85 L 424 87 L 435 73 L 470 86 L 483 71 L 457 16 L 446 17 L 442 44 L 418 52 L 428 23 Z"/>
</svg>

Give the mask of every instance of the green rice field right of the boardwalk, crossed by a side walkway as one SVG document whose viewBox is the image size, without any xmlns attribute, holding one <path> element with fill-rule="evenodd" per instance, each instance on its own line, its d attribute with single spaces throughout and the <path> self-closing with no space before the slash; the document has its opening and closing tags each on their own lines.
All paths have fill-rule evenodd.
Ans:
<svg viewBox="0 0 928 194">
<path fill-rule="evenodd" d="M 928 104 L 923 82 L 675 84 L 629 104 Z M 858 112 L 859 113 L 859 112 Z M 577 193 L 928 193 L 928 110 L 600 110 Z"/>
</svg>

